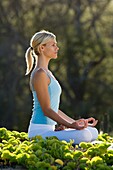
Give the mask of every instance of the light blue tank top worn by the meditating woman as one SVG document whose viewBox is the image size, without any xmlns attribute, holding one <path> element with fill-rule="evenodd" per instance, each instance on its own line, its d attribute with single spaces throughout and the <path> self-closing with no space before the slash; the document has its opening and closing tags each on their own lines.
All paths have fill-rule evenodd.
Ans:
<svg viewBox="0 0 113 170">
<path fill-rule="evenodd" d="M 50 78 L 50 84 L 48 85 L 48 91 L 49 91 L 49 95 L 50 95 L 51 108 L 55 112 L 58 113 L 60 94 L 61 94 L 61 86 L 52 74 L 48 74 L 47 72 L 46 72 L 46 74 Z M 33 113 L 32 113 L 31 123 L 48 124 L 48 125 L 57 124 L 57 122 L 55 122 L 54 120 L 52 120 L 49 117 L 44 115 L 42 108 L 40 106 L 40 103 L 38 101 L 36 91 L 33 88 L 32 88 L 32 94 L 33 94 Z"/>
</svg>

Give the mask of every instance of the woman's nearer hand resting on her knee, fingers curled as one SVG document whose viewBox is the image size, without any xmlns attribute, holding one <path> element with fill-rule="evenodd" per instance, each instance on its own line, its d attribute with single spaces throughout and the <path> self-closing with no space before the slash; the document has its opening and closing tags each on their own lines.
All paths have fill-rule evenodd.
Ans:
<svg viewBox="0 0 113 170">
<path fill-rule="evenodd" d="M 70 128 L 82 130 L 86 127 L 88 127 L 88 119 L 79 119 L 73 122 Z"/>
</svg>

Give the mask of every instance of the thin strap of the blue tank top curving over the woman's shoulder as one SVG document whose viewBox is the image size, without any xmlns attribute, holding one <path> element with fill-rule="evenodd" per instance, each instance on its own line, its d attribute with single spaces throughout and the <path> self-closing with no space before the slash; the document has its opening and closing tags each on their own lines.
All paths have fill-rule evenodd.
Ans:
<svg viewBox="0 0 113 170">
<path fill-rule="evenodd" d="M 40 68 L 35 69 L 34 71 L 32 71 L 31 76 L 30 76 L 30 89 L 31 89 L 32 91 L 34 91 L 33 83 L 32 83 L 32 77 L 33 77 L 34 73 L 35 73 L 36 71 L 40 70 L 40 69 L 42 69 L 42 70 L 46 73 L 46 75 L 50 78 L 50 80 L 51 80 L 51 75 L 50 75 L 43 67 L 40 67 Z"/>
</svg>

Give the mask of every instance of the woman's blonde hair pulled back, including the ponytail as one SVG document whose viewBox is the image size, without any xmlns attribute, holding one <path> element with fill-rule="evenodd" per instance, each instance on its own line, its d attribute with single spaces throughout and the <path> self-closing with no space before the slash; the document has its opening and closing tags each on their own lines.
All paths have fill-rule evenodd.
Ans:
<svg viewBox="0 0 113 170">
<path fill-rule="evenodd" d="M 26 74 L 28 75 L 33 68 L 34 65 L 34 58 L 37 61 L 38 55 L 40 54 L 40 45 L 46 44 L 51 38 L 56 39 L 56 36 L 49 32 L 42 30 L 40 32 L 36 32 L 31 40 L 30 40 L 30 47 L 26 50 L 25 59 L 27 64 Z"/>
</svg>

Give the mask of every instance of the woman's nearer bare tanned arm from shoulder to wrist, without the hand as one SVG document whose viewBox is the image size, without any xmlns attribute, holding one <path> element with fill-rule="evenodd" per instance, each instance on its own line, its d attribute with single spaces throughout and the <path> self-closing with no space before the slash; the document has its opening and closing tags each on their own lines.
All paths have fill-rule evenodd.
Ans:
<svg viewBox="0 0 113 170">
<path fill-rule="evenodd" d="M 45 116 L 48 116 L 59 124 L 70 127 L 69 121 L 65 120 L 58 113 L 51 109 L 50 96 L 48 92 L 49 83 L 50 79 L 42 69 L 35 72 L 33 77 L 33 86 L 37 93 L 42 111 L 44 112 Z"/>
</svg>

